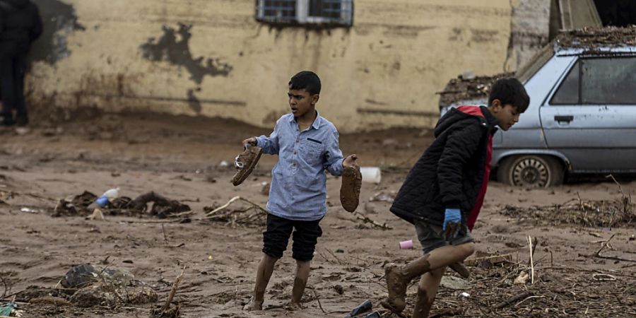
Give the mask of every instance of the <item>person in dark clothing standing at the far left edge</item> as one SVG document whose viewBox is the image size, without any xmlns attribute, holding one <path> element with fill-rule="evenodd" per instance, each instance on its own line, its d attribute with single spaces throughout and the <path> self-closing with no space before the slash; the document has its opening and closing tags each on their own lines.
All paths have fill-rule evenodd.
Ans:
<svg viewBox="0 0 636 318">
<path fill-rule="evenodd" d="M 0 0 L 0 11 L 1 124 L 23 126 L 28 124 L 24 100 L 26 56 L 31 42 L 42 33 L 42 19 L 37 6 L 29 0 Z"/>
</svg>

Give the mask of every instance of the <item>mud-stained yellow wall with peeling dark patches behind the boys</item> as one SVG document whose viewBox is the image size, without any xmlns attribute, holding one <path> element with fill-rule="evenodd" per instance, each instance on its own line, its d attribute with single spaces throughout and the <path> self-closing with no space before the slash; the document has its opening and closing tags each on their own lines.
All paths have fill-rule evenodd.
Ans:
<svg viewBox="0 0 636 318">
<path fill-rule="evenodd" d="M 353 28 L 322 32 L 261 25 L 254 20 L 254 0 L 63 4 L 74 9 L 81 26 L 56 31 L 55 45 L 62 39 L 68 51 L 57 61 L 33 63 L 33 104 L 232 117 L 272 126 L 288 110 L 290 76 L 310 69 L 323 82 L 318 109 L 340 131 L 434 124 L 435 92 L 449 78 L 466 69 L 503 71 L 511 25 L 509 0 L 356 0 Z M 54 8 L 41 8 L 44 16 L 52 14 L 47 10 Z M 181 42 L 189 47 L 186 64 L 143 56 L 143 45 L 156 45 L 164 27 L 178 33 L 179 23 L 192 25 L 187 46 Z M 49 40 L 34 49 L 41 53 Z M 206 67 L 208 58 L 213 61 Z M 197 83 L 188 65 L 208 75 Z"/>
</svg>

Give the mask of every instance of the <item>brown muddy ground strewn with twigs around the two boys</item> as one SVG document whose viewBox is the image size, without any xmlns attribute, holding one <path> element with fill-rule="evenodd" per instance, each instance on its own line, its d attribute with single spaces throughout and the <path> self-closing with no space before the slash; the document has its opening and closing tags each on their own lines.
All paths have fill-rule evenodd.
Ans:
<svg viewBox="0 0 636 318">
<path fill-rule="evenodd" d="M 248 313 L 241 308 L 249 300 L 261 257 L 262 218 L 233 223 L 232 218 L 201 218 L 234 196 L 266 204 L 261 192 L 275 157 L 264 156 L 240 187 L 232 187 L 232 170 L 220 164 L 225 160 L 231 165 L 242 139 L 266 133 L 269 129 L 225 119 L 157 114 L 100 114 L 59 124 L 40 122 L 25 134 L 0 131 L 0 295 L 6 301 L 28 286 L 59 288 L 71 266 L 91 263 L 131 271 L 159 293 L 161 302 L 185 266 L 175 296 L 182 317 L 343 317 L 366 299 L 384 317 L 396 317 L 377 305 L 386 295 L 382 266 L 410 261 L 420 252 L 418 245 L 399 249 L 400 241 L 416 240 L 415 231 L 389 213 L 389 202 L 371 198 L 390 199 L 399 189 L 408 167 L 432 140 L 430 131 L 341 136 L 345 153 L 358 153 L 363 166 L 383 168 L 380 184 L 363 184 L 358 211 L 392 229 L 373 227 L 344 211 L 338 203 L 340 180 L 329 177 L 331 208 L 321 223 L 324 235 L 312 263 L 306 308 L 285 310 L 295 266 L 285 254 L 266 293 L 265 310 Z M 469 267 L 468 285 L 442 287 L 432 314 L 634 317 L 636 220 L 631 216 L 636 208 L 628 196 L 636 182 L 620 182 L 620 189 L 601 180 L 531 191 L 493 182 L 473 231 L 477 256 L 511 254 L 510 259 Z M 189 205 L 192 213 L 167 219 L 105 213 L 105 220 L 90 220 L 86 213 L 51 215 L 59 199 L 84 191 L 101 194 L 112 187 L 131 198 L 152 190 Z M 230 210 L 245 207 L 249 204 L 237 202 Z M 184 219 L 189 223 L 178 222 Z M 529 235 L 538 245 L 535 282 L 515 284 L 520 273 L 531 271 Z M 409 298 L 415 295 L 414 285 L 408 293 Z M 500 305 L 515 295 L 521 297 Z M 153 304 L 18 305 L 23 317 L 148 317 Z"/>
</svg>

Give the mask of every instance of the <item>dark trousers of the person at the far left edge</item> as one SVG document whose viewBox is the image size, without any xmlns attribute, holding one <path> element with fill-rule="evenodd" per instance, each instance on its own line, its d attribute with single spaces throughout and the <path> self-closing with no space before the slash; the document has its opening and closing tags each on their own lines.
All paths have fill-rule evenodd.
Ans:
<svg viewBox="0 0 636 318">
<path fill-rule="evenodd" d="M 5 122 L 13 121 L 14 111 L 18 120 L 27 119 L 24 100 L 25 67 L 26 58 L 22 54 L 0 57 L 0 96 L 2 98 L 0 116 L 5 118 Z"/>
</svg>

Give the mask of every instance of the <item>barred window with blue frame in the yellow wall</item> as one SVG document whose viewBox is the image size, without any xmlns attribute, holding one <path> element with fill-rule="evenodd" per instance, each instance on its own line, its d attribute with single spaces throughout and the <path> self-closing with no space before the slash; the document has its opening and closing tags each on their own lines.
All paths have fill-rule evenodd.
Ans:
<svg viewBox="0 0 636 318">
<path fill-rule="evenodd" d="M 353 0 L 257 0 L 256 19 L 271 24 L 353 25 Z"/>
</svg>

